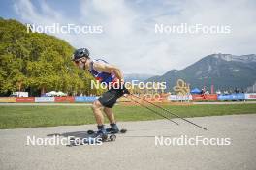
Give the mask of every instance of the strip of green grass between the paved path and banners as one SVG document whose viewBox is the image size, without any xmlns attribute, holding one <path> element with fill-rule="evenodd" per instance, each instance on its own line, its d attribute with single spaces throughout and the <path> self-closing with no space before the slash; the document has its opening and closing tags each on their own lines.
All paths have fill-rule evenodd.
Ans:
<svg viewBox="0 0 256 170">
<path fill-rule="evenodd" d="M 256 104 L 164 106 L 182 117 L 256 113 Z M 153 108 L 153 107 L 150 107 Z M 155 108 L 153 108 L 155 109 Z M 163 113 L 160 109 L 155 109 Z M 113 108 L 118 121 L 162 119 L 139 106 Z M 167 114 L 165 114 L 167 115 Z M 174 117 L 173 117 L 174 118 Z M 94 124 L 89 106 L 0 106 L 0 128 L 52 127 Z M 106 123 L 107 120 L 106 120 Z"/>
</svg>

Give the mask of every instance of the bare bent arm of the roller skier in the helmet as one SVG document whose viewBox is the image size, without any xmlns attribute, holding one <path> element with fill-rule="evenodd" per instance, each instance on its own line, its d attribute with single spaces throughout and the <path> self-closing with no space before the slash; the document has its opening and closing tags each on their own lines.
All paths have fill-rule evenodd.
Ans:
<svg viewBox="0 0 256 170">
<path fill-rule="evenodd" d="M 116 66 L 107 64 L 107 63 L 98 63 L 95 62 L 93 64 L 93 68 L 96 71 L 103 71 L 103 72 L 108 72 L 108 73 L 114 73 L 116 78 L 119 80 L 119 82 L 123 82 L 123 74 L 122 71 L 120 71 L 119 68 L 117 68 Z"/>
</svg>

